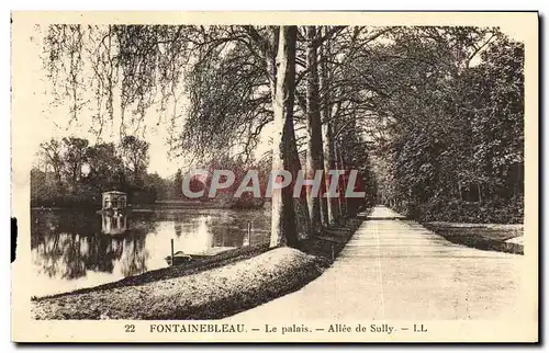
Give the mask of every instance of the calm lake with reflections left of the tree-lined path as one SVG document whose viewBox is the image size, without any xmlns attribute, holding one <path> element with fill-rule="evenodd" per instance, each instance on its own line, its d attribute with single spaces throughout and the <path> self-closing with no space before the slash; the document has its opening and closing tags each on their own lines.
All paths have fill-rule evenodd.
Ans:
<svg viewBox="0 0 549 353">
<path fill-rule="evenodd" d="M 104 216 L 31 210 L 33 295 L 91 287 L 168 266 L 175 251 L 214 255 L 269 241 L 269 210 L 184 209 Z M 248 237 L 247 225 L 251 221 Z"/>
</svg>

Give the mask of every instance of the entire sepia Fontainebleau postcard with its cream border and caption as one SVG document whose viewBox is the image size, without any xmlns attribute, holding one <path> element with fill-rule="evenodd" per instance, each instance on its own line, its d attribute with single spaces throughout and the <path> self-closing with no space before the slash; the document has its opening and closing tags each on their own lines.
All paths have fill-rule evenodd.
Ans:
<svg viewBox="0 0 549 353">
<path fill-rule="evenodd" d="M 537 342 L 538 13 L 13 12 L 15 342 Z"/>
</svg>

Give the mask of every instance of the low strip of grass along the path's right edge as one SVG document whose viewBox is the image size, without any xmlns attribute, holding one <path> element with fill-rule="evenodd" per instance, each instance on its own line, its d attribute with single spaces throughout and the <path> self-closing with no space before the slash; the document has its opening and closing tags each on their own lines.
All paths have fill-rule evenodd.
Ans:
<svg viewBox="0 0 549 353">
<path fill-rule="evenodd" d="M 433 221 L 424 226 L 437 235 L 470 248 L 524 254 L 524 246 L 508 242 L 523 236 L 522 225 L 456 224 Z"/>
</svg>

